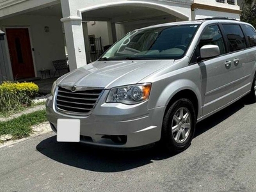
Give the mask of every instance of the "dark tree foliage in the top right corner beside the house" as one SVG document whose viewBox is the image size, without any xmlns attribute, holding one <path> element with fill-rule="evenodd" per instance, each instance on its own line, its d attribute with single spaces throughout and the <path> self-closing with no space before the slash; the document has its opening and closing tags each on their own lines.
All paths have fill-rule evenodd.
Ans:
<svg viewBox="0 0 256 192">
<path fill-rule="evenodd" d="M 244 0 L 241 20 L 256 26 L 256 0 Z"/>
</svg>

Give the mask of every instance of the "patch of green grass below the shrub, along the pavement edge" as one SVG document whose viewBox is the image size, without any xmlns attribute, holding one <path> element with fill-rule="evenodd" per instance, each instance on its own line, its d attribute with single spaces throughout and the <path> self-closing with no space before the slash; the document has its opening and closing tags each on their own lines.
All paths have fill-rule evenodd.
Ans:
<svg viewBox="0 0 256 192">
<path fill-rule="evenodd" d="M 11 134 L 13 139 L 20 139 L 32 132 L 31 126 L 47 121 L 45 110 L 24 114 L 6 122 L 0 122 L 0 136 Z"/>
</svg>

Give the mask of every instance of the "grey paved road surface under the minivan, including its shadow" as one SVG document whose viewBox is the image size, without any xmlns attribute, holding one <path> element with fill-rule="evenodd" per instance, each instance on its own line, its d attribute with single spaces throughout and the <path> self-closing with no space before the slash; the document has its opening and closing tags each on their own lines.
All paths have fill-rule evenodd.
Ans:
<svg viewBox="0 0 256 192">
<path fill-rule="evenodd" d="M 0 149 L 0 191 L 256 191 L 256 104 L 246 98 L 196 126 L 188 150 L 119 152 L 53 133 Z"/>
</svg>

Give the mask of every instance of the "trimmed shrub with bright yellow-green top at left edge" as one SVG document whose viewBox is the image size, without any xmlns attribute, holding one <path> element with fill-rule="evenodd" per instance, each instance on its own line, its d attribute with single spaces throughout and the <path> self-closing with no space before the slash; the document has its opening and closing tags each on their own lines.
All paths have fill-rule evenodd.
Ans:
<svg viewBox="0 0 256 192">
<path fill-rule="evenodd" d="M 35 83 L 3 82 L 0 84 L 0 112 L 12 113 L 30 106 L 37 92 L 38 86 Z"/>
</svg>

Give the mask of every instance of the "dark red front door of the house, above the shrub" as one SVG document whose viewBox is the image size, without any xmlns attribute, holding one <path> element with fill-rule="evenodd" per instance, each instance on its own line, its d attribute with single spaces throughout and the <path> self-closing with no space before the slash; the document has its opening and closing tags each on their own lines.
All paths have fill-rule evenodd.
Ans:
<svg viewBox="0 0 256 192">
<path fill-rule="evenodd" d="M 14 79 L 35 77 L 28 29 L 6 29 Z"/>
</svg>

